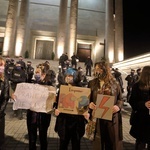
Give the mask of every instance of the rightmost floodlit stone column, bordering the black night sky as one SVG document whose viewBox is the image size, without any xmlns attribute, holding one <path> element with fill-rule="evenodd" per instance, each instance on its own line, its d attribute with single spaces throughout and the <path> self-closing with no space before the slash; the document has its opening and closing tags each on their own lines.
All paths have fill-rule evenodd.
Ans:
<svg viewBox="0 0 150 150">
<path fill-rule="evenodd" d="M 115 0 L 115 62 L 124 59 L 122 0 Z"/>
</svg>

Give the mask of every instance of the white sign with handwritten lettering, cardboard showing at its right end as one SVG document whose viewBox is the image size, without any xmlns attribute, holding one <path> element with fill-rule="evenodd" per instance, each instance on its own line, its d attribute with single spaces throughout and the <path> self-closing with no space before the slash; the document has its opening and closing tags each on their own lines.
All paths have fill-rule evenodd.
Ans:
<svg viewBox="0 0 150 150">
<path fill-rule="evenodd" d="M 31 83 L 19 83 L 15 90 L 13 110 L 30 109 L 35 112 L 50 112 L 56 100 L 56 89 Z"/>
</svg>

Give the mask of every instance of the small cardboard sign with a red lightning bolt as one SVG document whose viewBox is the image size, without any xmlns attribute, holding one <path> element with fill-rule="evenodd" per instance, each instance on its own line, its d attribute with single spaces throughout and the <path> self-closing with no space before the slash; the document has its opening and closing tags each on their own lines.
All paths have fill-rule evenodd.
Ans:
<svg viewBox="0 0 150 150">
<path fill-rule="evenodd" d="M 95 118 L 112 120 L 112 108 L 114 106 L 114 96 L 110 95 L 97 95 L 96 110 L 94 113 Z"/>
</svg>

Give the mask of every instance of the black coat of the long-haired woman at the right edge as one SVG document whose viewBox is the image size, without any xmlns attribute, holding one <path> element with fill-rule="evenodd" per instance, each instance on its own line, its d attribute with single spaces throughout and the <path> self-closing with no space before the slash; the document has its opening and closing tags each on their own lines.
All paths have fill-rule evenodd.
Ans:
<svg viewBox="0 0 150 150">
<path fill-rule="evenodd" d="M 130 134 L 142 142 L 150 142 L 150 114 L 146 108 L 145 102 L 150 100 L 150 90 L 139 89 L 139 82 L 135 83 L 132 88 L 129 103 L 136 112 Z"/>
</svg>

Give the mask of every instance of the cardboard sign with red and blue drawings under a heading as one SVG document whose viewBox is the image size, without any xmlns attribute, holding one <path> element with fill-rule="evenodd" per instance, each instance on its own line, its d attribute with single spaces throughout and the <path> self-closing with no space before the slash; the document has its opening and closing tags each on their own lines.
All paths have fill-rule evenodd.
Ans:
<svg viewBox="0 0 150 150">
<path fill-rule="evenodd" d="M 86 114 L 90 94 L 89 88 L 61 85 L 58 110 L 67 114 Z"/>
</svg>

